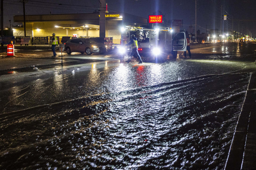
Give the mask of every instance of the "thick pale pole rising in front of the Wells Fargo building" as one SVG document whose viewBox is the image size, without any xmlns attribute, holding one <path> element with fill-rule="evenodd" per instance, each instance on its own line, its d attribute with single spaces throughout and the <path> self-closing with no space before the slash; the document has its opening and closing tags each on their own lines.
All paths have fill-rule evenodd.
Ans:
<svg viewBox="0 0 256 170">
<path fill-rule="evenodd" d="M 99 11 L 99 37 L 106 37 L 106 17 L 105 17 L 105 4 L 106 0 L 100 0 L 100 11 Z"/>
</svg>

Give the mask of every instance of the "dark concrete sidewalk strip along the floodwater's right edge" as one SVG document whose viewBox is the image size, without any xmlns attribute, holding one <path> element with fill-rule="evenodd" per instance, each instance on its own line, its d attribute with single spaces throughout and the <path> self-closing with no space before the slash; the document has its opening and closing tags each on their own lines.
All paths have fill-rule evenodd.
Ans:
<svg viewBox="0 0 256 170">
<path fill-rule="evenodd" d="M 256 73 L 251 74 L 245 101 L 235 128 L 226 170 L 256 169 Z"/>
</svg>

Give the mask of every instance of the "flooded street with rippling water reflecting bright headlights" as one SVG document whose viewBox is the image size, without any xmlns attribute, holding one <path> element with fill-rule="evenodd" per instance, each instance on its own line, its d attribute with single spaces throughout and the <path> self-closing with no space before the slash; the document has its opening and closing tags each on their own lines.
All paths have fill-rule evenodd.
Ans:
<svg viewBox="0 0 256 170">
<path fill-rule="evenodd" d="M 0 169 L 223 169 L 254 61 L 236 53 L 5 75 Z"/>
</svg>

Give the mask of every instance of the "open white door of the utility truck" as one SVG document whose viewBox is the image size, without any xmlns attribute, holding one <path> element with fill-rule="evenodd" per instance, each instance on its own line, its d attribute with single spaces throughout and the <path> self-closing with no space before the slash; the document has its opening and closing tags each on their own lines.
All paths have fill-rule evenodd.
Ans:
<svg viewBox="0 0 256 170">
<path fill-rule="evenodd" d="M 173 37 L 173 51 L 186 51 L 187 39 L 185 32 L 179 32 Z"/>
</svg>

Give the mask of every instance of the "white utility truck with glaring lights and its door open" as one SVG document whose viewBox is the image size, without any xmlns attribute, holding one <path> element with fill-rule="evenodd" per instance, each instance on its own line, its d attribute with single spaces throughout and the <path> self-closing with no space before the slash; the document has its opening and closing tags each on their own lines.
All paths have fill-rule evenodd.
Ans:
<svg viewBox="0 0 256 170">
<path fill-rule="evenodd" d="M 158 27 L 155 29 L 147 29 L 142 27 L 126 26 L 121 33 L 121 52 L 131 51 L 128 46 L 124 49 L 124 45 L 129 43 L 131 35 L 135 35 L 138 40 L 138 52 L 143 57 L 154 57 L 155 60 L 164 60 L 168 53 L 173 54 L 176 58 L 177 52 L 186 51 L 186 35 L 185 32 L 179 32 L 173 37 L 172 29 L 166 27 Z"/>
</svg>

